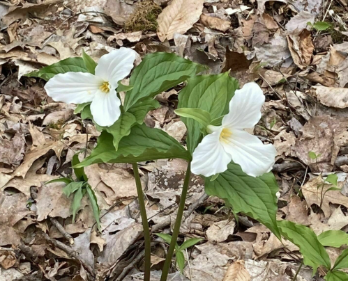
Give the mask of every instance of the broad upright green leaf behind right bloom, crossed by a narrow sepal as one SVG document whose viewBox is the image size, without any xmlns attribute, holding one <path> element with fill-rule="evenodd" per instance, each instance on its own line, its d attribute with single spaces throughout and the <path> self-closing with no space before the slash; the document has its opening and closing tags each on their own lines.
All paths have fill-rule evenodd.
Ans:
<svg viewBox="0 0 348 281">
<path fill-rule="evenodd" d="M 228 113 L 229 101 L 238 88 L 237 81 L 228 72 L 219 75 L 202 75 L 188 79 L 179 93 L 178 108 L 203 109 L 211 119 Z M 192 154 L 202 138 L 199 123 L 191 118 L 181 118 L 188 128 L 188 151 Z"/>
</svg>

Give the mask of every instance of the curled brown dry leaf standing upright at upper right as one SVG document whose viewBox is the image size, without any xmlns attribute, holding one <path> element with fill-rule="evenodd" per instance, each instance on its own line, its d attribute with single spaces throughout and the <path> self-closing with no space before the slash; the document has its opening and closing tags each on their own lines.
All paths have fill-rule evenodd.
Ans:
<svg viewBox="0 0 348 281">
<path fill-rule="evenodd" d="M 305 29 L 299 34 L 288 35 L 287 42 L 294 63 L 301 70 L 310 65 L 314 50 L 312 33 Z"/>
</svg>

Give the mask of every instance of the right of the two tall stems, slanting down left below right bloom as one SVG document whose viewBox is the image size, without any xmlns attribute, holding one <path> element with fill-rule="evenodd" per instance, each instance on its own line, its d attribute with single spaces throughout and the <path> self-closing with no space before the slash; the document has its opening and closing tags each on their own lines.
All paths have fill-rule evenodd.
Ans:
<svg viewBox="0 0 348 281">
<path fill-rule="evenodd" d="M 178 240 L 178 236 L 179 236 L 181 219 L 183 218 L 183 209 L 185 208 L 186 196 L 188 195 L 188 184 L 190 184 L 190 175 L 191 175 L 191 163 L 188 163 L 188 168 L 186 170 L 185 180 L 183 182 L 183 191 L 181 192 L 178 214 L 176 215 L 173 236 L 172 236 L 172 240 L 170 241 L 170 245 L 169 245 L 167 257 L 165 259 L 165 265 L 163 266 L 163 269 L 162 269 L 162 275 L 160 277 L 160 281 L 167 280 L 169 268 L 172 264 L 172 257 L 174 254 L 176 241 Z"/>
</svg>

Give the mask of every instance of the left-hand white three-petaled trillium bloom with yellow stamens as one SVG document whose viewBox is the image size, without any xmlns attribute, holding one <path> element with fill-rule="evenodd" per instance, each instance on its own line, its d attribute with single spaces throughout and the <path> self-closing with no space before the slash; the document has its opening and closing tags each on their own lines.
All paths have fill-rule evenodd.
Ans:
<svg viewBox="0 0 348 281">
<path fill-rule="evenodd" d="M 92 102 L 93 120 L 100 126 L 111 126 L 121 115 L 121 100 L 116 94 L 118 82 L 130 74 L 136 57 L 133 49 L 122 47 L 110 51 L 98 61 L 95 74 L 56 74 L 46 83 L 45 90 L 56 102 Z"/>
</svg>

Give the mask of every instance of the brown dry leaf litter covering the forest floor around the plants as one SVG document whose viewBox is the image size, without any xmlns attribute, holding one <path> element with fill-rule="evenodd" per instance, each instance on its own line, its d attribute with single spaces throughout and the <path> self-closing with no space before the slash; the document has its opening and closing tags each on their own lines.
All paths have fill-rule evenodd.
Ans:
<svg viewBox="0 0 348 281">
<path fill-rule="evenodd" d="M 278 151 L 273 168 L 280 185 L 278 218 L 308 225 L 316 234 L 347 232 L 346 10 L 345 1 L 326 0 L 76 0 L 67 6 L 62 1 L 1 1 L 1 280 L 143 278 L 142 225 L 131 166 L 85 169 L 98 198 L 101 232 L 89 200 L 82 200 L 73 222 L 73 199 L 63 194 L 63 184 L 45 184 L 75 177 L 73 155 L 88 155 L 99 133 L 73 115 L 74 107 L 47 97 L 42 79 L 24 74 L 82 51 L 96 61 L 120 46 L 133 47 L 142 57 L 169 51 L 208 65 L 207 73 L 229 71 L 241 85 L 257 81 L 266 103 L 253 134 Z M 315 29 L 319 22 L 326 22 L 327 29 Z M 174 113 L 180 90 L 158 95 L 161 107 L 145 122 L 184 144 L 186 127 Z M 310 158 L 310 152 L 317 157 Z M 185 163 L 160 160 L 139 163 L 139 168 L 153 234 L 170 234 Z M 336 189 L 325 181 L 333 174 Z M 169 280 L 292 280 L 296 275 L 298 248 L 204 195 L 199 177 L 191 179 L 186 207 L 179 243 L 204 240 L 188 248 L 183 275 L 172 272 Z M 155 235 L 153 242 L 151 278 L 159 280 L 166 246 Z M 340 251 L 328 252 L 333 258 Z M 303 266 L 296 280 L 312 280 L 310 268 Z"/>
</svg>

